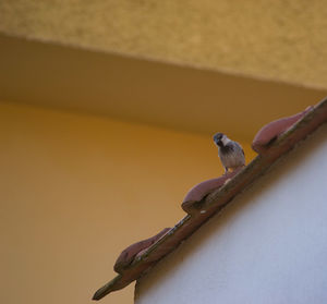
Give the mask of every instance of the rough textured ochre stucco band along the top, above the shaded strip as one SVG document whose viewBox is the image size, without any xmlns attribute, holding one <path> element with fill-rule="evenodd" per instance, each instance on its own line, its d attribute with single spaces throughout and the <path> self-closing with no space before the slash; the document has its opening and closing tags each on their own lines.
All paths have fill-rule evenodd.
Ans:
<svg viewBox="0 0 327 304">
<path fill-rule="evenodd" d="M 3 0 L 2 33 L 327 87 L 326 0 Z"/>
</svg>

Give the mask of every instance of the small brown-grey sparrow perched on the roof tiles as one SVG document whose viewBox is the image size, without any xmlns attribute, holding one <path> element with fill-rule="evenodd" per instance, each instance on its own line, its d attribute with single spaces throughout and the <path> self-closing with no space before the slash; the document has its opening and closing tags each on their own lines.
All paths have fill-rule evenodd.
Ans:
<svg viewBox="0 0 327 304">
<path fill-rule="evenodd" d="M 225 168 L 225 174 L 228 169 L 233 171 L 245 166 L 244 151 L 239 143 L 229 139 L 222 133 L 215 134 L 214 142 L 218 146 L 218 156 Z"/>
</svg>

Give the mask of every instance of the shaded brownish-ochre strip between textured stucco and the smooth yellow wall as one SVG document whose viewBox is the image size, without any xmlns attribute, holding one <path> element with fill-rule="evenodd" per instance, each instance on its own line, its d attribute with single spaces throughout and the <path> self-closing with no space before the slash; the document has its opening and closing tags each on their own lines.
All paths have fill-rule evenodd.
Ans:
<svg viewBox="0 0 327 304">
<path fill-rule="evenodd" d="M 327 96 L 326 89 L 3 35 L 0 66 L 0 100 L 204 134 L 219 129 L 246 141 L 267 122 L 303 111 Z"/>
</svg>

